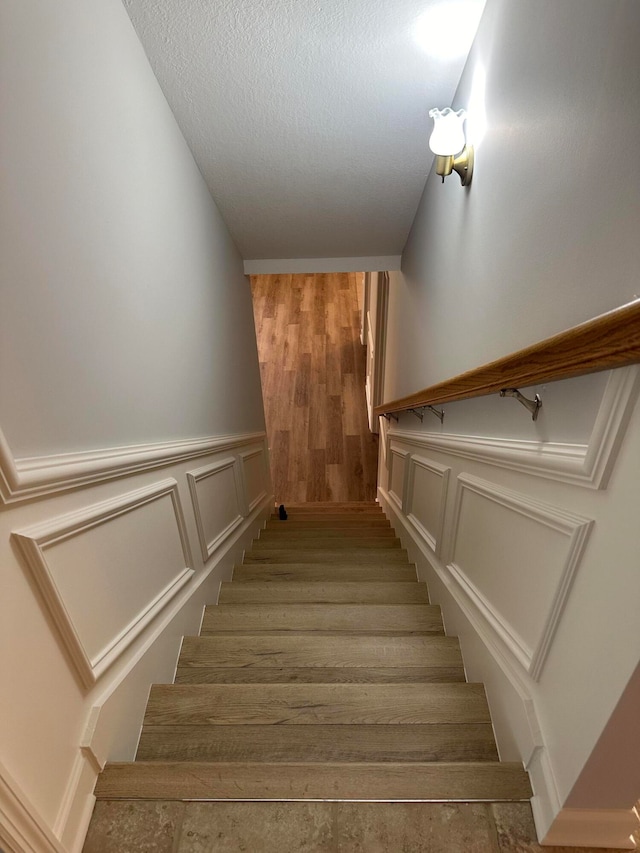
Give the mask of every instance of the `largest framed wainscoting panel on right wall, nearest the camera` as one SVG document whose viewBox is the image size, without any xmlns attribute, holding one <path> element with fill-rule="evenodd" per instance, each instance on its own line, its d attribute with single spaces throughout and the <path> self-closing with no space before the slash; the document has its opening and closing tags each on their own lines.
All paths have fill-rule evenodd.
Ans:
<svg viewBox="0 0 640 853">
<path fill-rule="evenodd" d="M 458 483 L 447 569 L 537 679 L 593 522 L 476 477 Z"/>
</svg>

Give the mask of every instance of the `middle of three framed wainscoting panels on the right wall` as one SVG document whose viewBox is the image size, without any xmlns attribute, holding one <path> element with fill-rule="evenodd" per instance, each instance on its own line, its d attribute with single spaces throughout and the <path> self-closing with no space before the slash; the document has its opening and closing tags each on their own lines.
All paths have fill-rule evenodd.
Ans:
<svg viewBox="0 0 640 853">
<path fill-rule="evenodd" d="M 451 469 L 423 456 L 411 456 L 407 484 L 408 520 L 439 554 Z"/>
</svg>

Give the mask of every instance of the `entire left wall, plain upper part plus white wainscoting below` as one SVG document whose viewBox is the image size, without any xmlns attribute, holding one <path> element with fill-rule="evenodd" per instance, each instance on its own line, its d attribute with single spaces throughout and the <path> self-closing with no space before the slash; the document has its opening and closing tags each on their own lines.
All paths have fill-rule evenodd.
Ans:
<svg viewBox="0 0 640 853">
<path fill-rule="evenodd" d="M 0 9 L 0 846 L 79 850 L 271 491 L 242 260 L 119 0 Z"/>
</svg>

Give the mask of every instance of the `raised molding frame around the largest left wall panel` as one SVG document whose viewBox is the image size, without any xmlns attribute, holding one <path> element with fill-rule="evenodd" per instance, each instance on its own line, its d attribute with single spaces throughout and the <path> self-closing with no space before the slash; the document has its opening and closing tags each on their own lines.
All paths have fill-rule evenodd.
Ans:
<svg viewBox="0 0 640 853">
<path fill-rule="evenodd" d="M 149 504 L 169 499 L 175 518 L 183 565 L 177 574 L 162 589 L 147 601 L 144 607 L 124 627 L 120 628 L 99 652 L 87 652 L 86 637 L 74 622 L 72 613 L 59 589 L 47 551 L 83 533 L 109 522 L 121 519 L 125 514 Z M 145 532 L 145 535 L 150 535 Z M 91 687 L 97 679 L 120 657 L 126 648 L 146 628 L 154 617 L 188 583 L 194 572 L 187 531 L 178 495 L 178 484 L 174 479 L 162 480 L 142 489 L 121 495 L 111 500 L 85 507 L 78 512 L 59 516 L 43 524 L 14 531 L 12 538 L 24 556 L 32 577 L 49 611 L 59 634 L 63 648 L 78 674 L 82 685 Z"/>
</svg>

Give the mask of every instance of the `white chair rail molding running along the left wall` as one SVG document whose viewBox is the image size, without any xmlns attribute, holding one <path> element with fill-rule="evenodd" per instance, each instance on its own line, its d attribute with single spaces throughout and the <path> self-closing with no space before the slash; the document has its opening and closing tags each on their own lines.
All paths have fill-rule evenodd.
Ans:
<svg viewBox="0 0 640 853">
<path fill-rule="evenodd" d="M 253 432 L 16 459 L 0 429 L 0 498 L 6 504 L 15 503 L 122 474 L 232 450 L 264 437 L 264 432 Z"/>
</svg>

